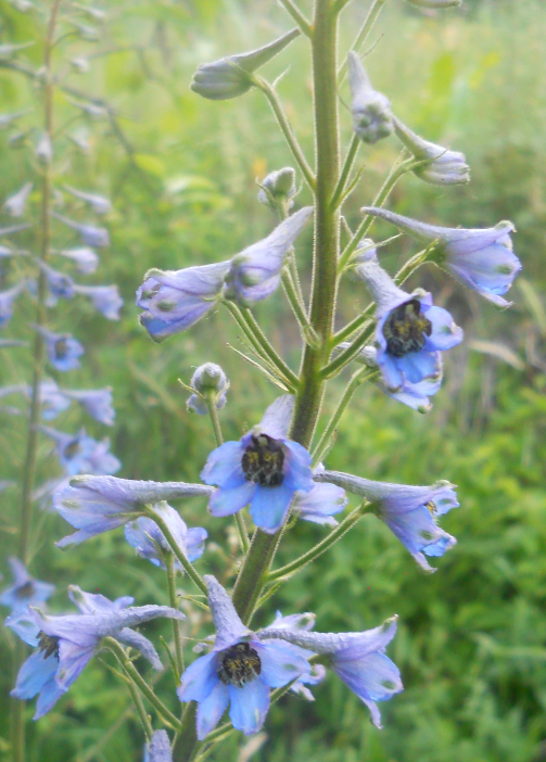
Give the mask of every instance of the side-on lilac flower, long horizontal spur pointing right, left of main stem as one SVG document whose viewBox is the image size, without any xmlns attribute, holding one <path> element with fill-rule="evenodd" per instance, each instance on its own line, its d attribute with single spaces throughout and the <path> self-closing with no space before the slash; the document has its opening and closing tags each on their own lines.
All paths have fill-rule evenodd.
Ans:
<svg viewBox="0 0 546 762">
<path fill-rule="evenodd" d="M 211 495 L 204 484 L 185 482 L 140 482 L 114 477 L 82 475 L 71 480 L 71 485 L 53 496 L 54 509 L 78 530 L 61 539 L 64 547 L 82 543 L 97 534 L 123 526 L 143 513 L 144 506 L 162 500 L 175 500 L 194 495 Z M 178 522 L 167 515 L 169 529 L 178 533 Z"/>
</svg>

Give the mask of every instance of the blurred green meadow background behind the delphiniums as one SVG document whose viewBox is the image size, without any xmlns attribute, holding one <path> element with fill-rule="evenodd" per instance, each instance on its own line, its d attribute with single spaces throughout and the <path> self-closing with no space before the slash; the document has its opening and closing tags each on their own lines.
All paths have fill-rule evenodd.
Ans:
<svg viewBox="0 0 546 762">
<path fill-rule="evenodd" d="M 306 0 L 304 5 L 307 5 Z M 112 449 L 122 460 L 117 475 L 196 481 L 214 447 L 206 419 L 186 411 L 177 379 L 189 382 L 204 361 L 220 364 L 231 379 L 221 414 L 226 439 L 237 439 L 259 420 L 276 396 L 230 347 L 243 350 L 226 312 L 191 331 L 153 344 L 138 323 L 134 294 L 148 268 L 178 269 L 227 258 L 267 234 L 276 220 L 256 200 L 255 179 L 291 163 L 267 103 L 250 92 L 227 103 L 204 101 L 189 90 L 199 65 L 249 50 L 291 28 L 270 0 L 107 0 L 107 24 L 97 42 L 75 37 L 68 58 L 88 55 L 91 71 L 66 81 L 104 99 L 113 119 L 92 125 L 82 117 L 69 132 L 89 137 L 85 154 L 66 138 L 59 183 L 94 190 L 113 201 L 106 218 L 112 245 L 102 254 L 101 282 L 117 283 L 126 300 L 120 322 L 105 322 L 81 304 L 61 306 L 59 325 L 87 347 L 72 388 L 111 385 L 117 411 Z M 368 2 L 354 0 L 342 21 L 341 50 L 348 48 Z M 35 39 L 33 12 L 2 0 L 0 42 Z M 524 270 L 499 313 L 447 276 L 429 269 L 411 285 L 433 291 L 466 332 L 446 355 L 443 390 L 433 410 L 421 416 L 376 389 L 361 389 L 342 420 L 328 466 L 370 479 L 458 485 L 461 507 L 443 520 L 458 545 L 426 576 L 401 544 L 373 517 L 366 517 L 333 550 L 300 573 L 276 596 L 275 609 L 315 610 L 319 630 L 361 630 L 399 614 L 390 656 L 399 665 L 405 691 L 381 707 L 383 731 L 340 681 L 330 676 L 316 701 L 283 698 L 270 712 L 267 737 L 253 759 L 263 762 L 539 762 L 546 760 L 546 8 L 536 0 L 467 0 L 462 9 L 435 13 L 390 0 L 368 43 L 374 86 L 396 114 L 429 140 L 462 151 L 472 168 L 467 187 L 442 189 L 405 177 L 389 203 L 395 212 L 445 226 L 488 227 L 511 219 Z M 102 53 L 109 53 L 103 55 Z M 99 54 L 101 53 L 101 54 Z M 24 51 L 39 65 L 40 45 Z M 58 65 L 62 66 L 59 60 Z M 274 79 L 289 71 L 279 93 L 302 145 L 313 156 L 310 73 L 300 38 L 269 64 Z M 351 136 L 346 85 L 340 92 L 345 145 Z M 35 106 L 31 81 L 0 62 L 2 112 Z M 74 113 L 58 92 L 55 125 Z M 24 117 L 33 124 L 36 115 Z M 369 203 L 398 153 L 394 139 L 361 150 L 361 181 L 346 206 L 350 224 Z M 0 132 L 2 200 L 27 178 L 28 154 Z M 35 191 L 36 193 L 36 191 Z M 33 195 L 38 215 L 38 194 Z M 309 202 L 303 190 L 297 204 Z M 2 224 L 8 224 L 2 218 Z M 376 225 L 376 239 L 393 229 Z M 25 245 L 23 233 L 17 243 Z M 307 237 L 305 239 L 305 236 Z M 28 245 L 31 242 L 28 234 Z M 67 234 L 68 240 L 68 234 Z M 310 233 L 300 240 L 299 261 L 308 284 Z M 385 267 L 417 251 L 402 238 L 383 251 Z M 0 275 L 7 279 L 8 268 Z M 97 282 L 88 276 L 82 282 Z M 3 282 L 7 282 L 5 280 Z M 1 285 L 0 290 L 5 288 Z M 26 301 L 25 301 L 26 300 Z M 361 284 L 343 285 L 339 325 L 367 303 Z M 33 302 L 17 303 L 10 335 L 28 338 Z M 275 294 L 255 310 L 276 346 L 296 367 L 295 323 Z M 0 385 L 28 379 L 24 350 L 2 353 Z M 67 383 L 63 378 L 62 381 Z M 326 411 L 341 381 L 330 384 Z M 80 424 L 76 410 L 59 428 Z M 55 422 L 56 426 L 56 422 Z M 88 431 L 103 436 L 93 422 Z M 24 420 L 0 412 L 0 479 L 17 480 L 25 444 Z M 42 480 L 55 472 L 51 443 L 40 443 Z M 0 496 L 1 570 L 16 538 L 18 487 Z M 211 521 L 200 501 L 185 505 L 190 525 L 204 525 L 213 547 L 199 569 L 234 579 L 229 520 Z M 53 610 L 66 607 L 66 586 L 137 604 L 167 602 L 163 574 L 138 559 L 123 532 L 61 551 L 55 539 L 65 522 L 37 510 L 30 569 L 58 585 Z M 320 526 L 296 525 L 280 553 L 287 562 L 323 535 Z M 226 569 L 228 571 L 226 571 Z M 183 587 L 181 584 L 181 587 Z M 190 612 L 190 609 L 188 609 Z M 202 624 L 191 613 L 188 634 Z M 208 626 L 208 625 L 206 625 Z M 164 632 L 151 624 L 148 632 Z M 165 634 L 168 636 L 168 627 Z M 0 631 L 0 758 L 9 752 L 7 696 L 13 685 L 14 642 Z M 173 678 L 160 683 L 173 710 Z M 33 708 L 28 708 L 31 716 Z M 142 738 L 129 696 L 96 660 L 50 714 L 30 727 L 28 762 L 134 762 Z M 251 749 L 241 760 L 249 759 Z M 238 759 L 236 740 L 213 755 Z"/>
</svg>

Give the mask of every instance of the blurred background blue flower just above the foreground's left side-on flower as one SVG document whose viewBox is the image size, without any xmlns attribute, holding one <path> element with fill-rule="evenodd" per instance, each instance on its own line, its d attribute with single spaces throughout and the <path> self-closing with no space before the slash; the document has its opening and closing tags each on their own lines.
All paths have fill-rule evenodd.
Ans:
<svg viewBox="0 0 546 762">
<path fill-rule="evenodd" d="M 61 466 L 69 477 L 78 473 L 110 474 L 122 468 L 119 460 L 109 452 L 110 440 L 97 442 L 81 429 L 78 434 L 66 434 L 50 427 L 40 427 L 56 443 Z"/>
</svg>

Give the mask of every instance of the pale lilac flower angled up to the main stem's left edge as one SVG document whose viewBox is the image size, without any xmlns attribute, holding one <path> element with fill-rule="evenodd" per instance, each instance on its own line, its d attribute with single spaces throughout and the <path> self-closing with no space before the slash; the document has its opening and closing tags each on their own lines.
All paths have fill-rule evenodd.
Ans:
<svg viewBox="0 0 546 762">
<path fill-rule="evenodd" d="M 237 254 L 226 278 L 227 299 L 249 306 L 272 294 L 280 283 L 284 258 L 312 214 L 313 206 L 305 206 L 267 238 Z"/>
</svg>

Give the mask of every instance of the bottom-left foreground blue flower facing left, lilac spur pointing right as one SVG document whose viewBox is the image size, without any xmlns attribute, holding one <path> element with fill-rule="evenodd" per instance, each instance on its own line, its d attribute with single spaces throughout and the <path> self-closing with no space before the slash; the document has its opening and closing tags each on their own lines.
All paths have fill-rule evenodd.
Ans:
<svg viewBox="0 0 546 762">
<path fill-rule="evenodd" d="M 132 598 L 111 601 L 104 596 L 84 593 L 71 587 L 71 598 L 79 614 L 50 617 L 31 609 L 26 614 L 7 620 L 28 645 L 37 650 L 22 665 L 11 695 L 30 699 L 38 695 L 35 720 L 47 714 L 81 674 L 103 637 L 117 640 L 139 650 L 156 670 L 162 663 L 153 645 L 141 633 L 130 627 L 139 626 L 158 617 L 185 619 L 181 611 L 168 606 L 138 606 L 126 608 Z"/>
</svg>

